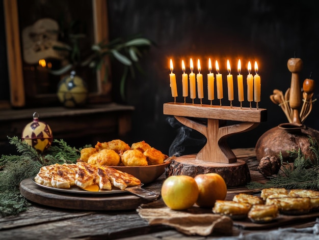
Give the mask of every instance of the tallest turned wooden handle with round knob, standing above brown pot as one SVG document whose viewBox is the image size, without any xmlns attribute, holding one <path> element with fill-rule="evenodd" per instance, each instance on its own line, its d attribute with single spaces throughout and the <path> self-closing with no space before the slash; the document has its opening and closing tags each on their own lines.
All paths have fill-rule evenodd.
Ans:
<svg viewBox="0 0 319 240">
<path fill-rule="evenodd" d="M 299 72 L 303 68 L 303 62 L 300 58 L 289 58 L 287 67 L 291 72 L 289 106 L 293 109 L 293 123 L 301 124 L 299 116 L 299 108 L 301 106 Z"/>
</svg>

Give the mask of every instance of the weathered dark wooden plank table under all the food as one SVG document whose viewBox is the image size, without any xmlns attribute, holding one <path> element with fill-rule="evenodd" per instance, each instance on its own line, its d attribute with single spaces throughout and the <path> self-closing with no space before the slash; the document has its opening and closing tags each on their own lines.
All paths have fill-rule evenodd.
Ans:
<svg viewBox="0 0 319 240">
<path fill-rule="evenodd" d="M 263 181 L 256 171 L 254 149 L 235 149 L 238 158 L 246 159 L 253 180 Z M 165 174 L 154 183 L 146 185 L 145 189 L 159 193 Z M 228 190 L 227 199 L 232 199 L 237 192 L 247 190 L 245 187 Z M 161 204 L 161 199 L 157 200 Z M 210 209 L 207 209 L 210 212 Z M 211 213 L 211 212 L 210 212 Z M 311 227 L 315 218 L 291 222 L 281 227 Z M 234 225 L 232 236 L 251 232 L 269 231 L 276 229 L 241 229 Z M 34 204 L 26 212 L 18 216 L 0 218 L 1 239 L 216 239 L 219 235 L 187 236 L 174 228 L 165 225 L 149 226 L 136 209 L 125 211 L 83 211 L 81 209 L 62 209 Z"/>
</svg>

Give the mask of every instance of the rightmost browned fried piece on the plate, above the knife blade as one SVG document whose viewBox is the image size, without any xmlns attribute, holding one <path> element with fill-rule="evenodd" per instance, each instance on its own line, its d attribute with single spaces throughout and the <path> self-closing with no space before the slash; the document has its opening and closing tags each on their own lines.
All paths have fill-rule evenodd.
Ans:
<svg viewBox="0 0 319 240">
<path fill-rule="evenodd" d="M 124 190 L 126 187 L 137 186 L 141 184 L 140 179 L 135 176 L 122 172 L 112 167 L 98 166 L 98 170 L 103 172 L 104 176 L 107 176 L 113 186 Z"/>
</svg>

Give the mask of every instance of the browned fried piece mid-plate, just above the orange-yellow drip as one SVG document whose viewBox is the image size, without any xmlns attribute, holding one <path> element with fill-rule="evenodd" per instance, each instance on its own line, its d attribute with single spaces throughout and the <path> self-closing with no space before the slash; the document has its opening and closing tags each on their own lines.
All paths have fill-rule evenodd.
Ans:
<svg viewBox="0 0 319 240">
<path fill-rule="evenodd" d="M 97 166 L 85 162 L 76 163 L 78 170 L 75 176 L 75 185 L 80 188 L 86 188 L 99 182 L 97 175 Z"/>
</svg>

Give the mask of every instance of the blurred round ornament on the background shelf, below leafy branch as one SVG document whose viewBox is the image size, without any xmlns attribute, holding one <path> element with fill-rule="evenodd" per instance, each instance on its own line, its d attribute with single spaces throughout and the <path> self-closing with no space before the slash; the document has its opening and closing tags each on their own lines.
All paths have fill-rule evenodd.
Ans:
<svg viewBox="0 0 319 240">
<path fill-rule="evenodd" d="M 58 98 L 65 107 L 77 107 L 86 103 L 88 89 L 84 80 L 72 71 L 58 84 Z"/>
</svg>

